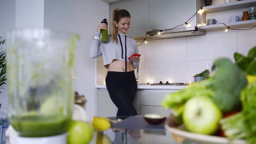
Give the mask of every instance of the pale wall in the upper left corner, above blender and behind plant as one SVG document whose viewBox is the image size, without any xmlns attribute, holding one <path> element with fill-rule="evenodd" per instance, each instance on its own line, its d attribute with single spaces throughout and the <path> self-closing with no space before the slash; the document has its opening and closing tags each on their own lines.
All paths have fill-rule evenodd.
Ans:
<svg viewBox="0 0 256 144">
<path fill-rule="evenodd" d="M 0 14 L 0 36 L 15 28 L 43 28 L 43 0 L 1 0 Z M 0 103 L 7 109 L 7 87 L 3 88 Z"/>
</svg>

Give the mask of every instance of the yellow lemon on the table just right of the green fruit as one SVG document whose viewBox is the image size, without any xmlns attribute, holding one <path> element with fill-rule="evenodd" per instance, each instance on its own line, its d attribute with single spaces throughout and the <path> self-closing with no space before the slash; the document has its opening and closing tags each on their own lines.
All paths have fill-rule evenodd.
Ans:
<svg viewBox="0 0 256 144">
<path fill-rule="evenodd" d="M 92 126 L 95 131 L 105 131 L 110 128 L 110 120 L 108 118 L 94 117 Z"/>
</svg>

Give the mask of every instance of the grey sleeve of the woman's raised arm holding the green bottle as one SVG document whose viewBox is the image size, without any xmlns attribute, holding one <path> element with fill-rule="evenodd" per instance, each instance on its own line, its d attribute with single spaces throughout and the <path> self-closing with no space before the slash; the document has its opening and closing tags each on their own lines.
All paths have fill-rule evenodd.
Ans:
<svg viewBox="0 0 256 144">
<path fill-rule="evenodd" d="M 96 59 L 99 56 L 102 56 L 102 51 L 100 50 L 100 47 L 102 47 L 102 43 L 99 40 L 100 35 L 101 35 L 101 33 L 97 32 L 92 39 L 92 44 L 91 44 L 91 48 L 90 48 L 90 57 L 92 59 Z"/>
</svg>

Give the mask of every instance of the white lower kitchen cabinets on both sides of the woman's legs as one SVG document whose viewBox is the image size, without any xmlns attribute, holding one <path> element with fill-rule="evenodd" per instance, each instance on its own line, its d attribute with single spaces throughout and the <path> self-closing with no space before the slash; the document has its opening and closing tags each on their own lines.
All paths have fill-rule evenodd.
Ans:
<svg viewBox="0 0 256 144">
<path fill-rule="evenodd" d="M 169 116 L 172 112 L 161 106 L 161 101 L 166 94 L 177 92 L 180 89 L 138 89 L 133 105 L 138 115 L 160 114 Z M 98 88 L 97 115 L 102 117 L 116 116 L 117 108 L 108 95 L 106 88 Z"/>
</svg>

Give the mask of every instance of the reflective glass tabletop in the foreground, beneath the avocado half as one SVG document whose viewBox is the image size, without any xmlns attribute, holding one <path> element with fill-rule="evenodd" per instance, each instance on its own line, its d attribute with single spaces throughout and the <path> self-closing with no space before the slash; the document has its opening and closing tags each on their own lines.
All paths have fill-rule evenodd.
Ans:
<svg viewBox="0 0 256 144">
<path fill-rule="evenodd" d="M 142 116 L 138 117 L 143 118 Z M 94 132 L 90 144 L 203 144 L 172 134 L 164 128 L 164 122 L 152 125 L 146 121 L 135 121 L 132 119 L 135 118 L 133 116 L 127 119 L 129 118 L 131 121 L 121 124 L 126 119 L 118 122 L 116 121 L 118 118 L 110 117 L 110 120 L 115 121 L 112 128 L 102 132 Z M 9 140 L 6 139 L 4 144 L 10 144 Z"/>
</svg>

